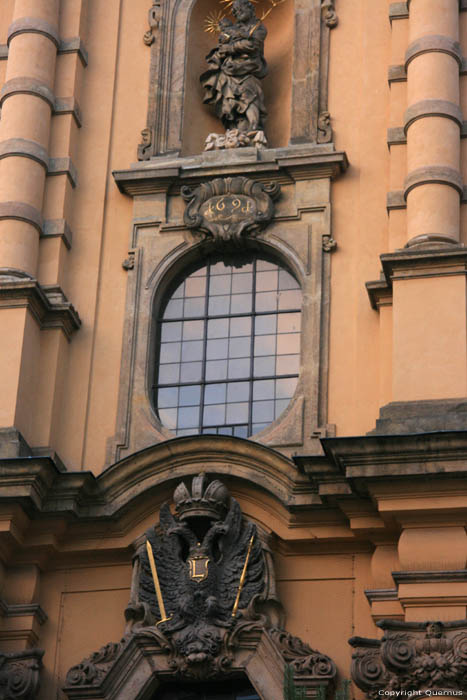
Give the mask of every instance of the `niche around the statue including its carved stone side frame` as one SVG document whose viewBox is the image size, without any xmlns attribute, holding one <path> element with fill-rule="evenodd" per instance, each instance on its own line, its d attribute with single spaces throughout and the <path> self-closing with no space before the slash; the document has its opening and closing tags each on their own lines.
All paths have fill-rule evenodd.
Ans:
<svg viewBox="0 0 467 700">
<path fill-rule="evenodd" d="M 148 3 L 150 0 L 148 0 Z M 270 0 L 260 0 L 258 13 Z M 152 0 L 148 113 L 138 159 L 200 154 L 221 122 L 203 105 L 199 76 L 216 37 L 204 31 L 218 0 Z M 337 24 L 334 0 L 284 0 L 265 18 L 263 81 L 270 148 L 332 143 L 327 112 L 329 32 Z"/>
</svg>

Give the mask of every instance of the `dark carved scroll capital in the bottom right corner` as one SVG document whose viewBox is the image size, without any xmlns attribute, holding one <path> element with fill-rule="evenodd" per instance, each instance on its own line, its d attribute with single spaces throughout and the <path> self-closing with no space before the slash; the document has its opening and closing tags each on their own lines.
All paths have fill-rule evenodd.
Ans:
<svg viewBox="0 0 467 700">
<path fill-rule="evenodd" d="M 381 620 L 382 640 L 352 637 L 352 678 L 376 700 L 396 691 L 467 690 L 467 620 Z M 399 693 L 400 694 L 400 693 Z M 404 693 L 405 694 L 405 693 Z"/>
</svg>

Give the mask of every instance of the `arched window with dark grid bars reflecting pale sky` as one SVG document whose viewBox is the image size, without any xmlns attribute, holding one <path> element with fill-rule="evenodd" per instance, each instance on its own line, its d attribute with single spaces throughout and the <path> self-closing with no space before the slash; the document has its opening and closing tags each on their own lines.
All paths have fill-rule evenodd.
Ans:
<svg viewBox="0 0 467 700">
<path fill-rule="evenodd" d="M 157 318 L 154 407 L 177 435 L 248 437 L 294 394 L 302 294 L 276 261 L 208 259 L 178 278 Z"/>
</svg>

